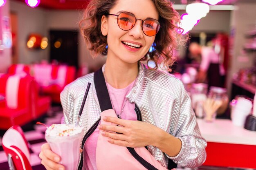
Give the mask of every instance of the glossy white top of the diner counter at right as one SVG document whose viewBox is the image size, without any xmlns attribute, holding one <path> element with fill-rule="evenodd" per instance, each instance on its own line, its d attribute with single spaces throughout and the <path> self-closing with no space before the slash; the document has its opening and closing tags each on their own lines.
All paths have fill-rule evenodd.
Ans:
<svg viewBox="0 0 256 170">
<path fill-rule="evenodd" d="M 229 119 L 216 119 L 206 122 L 197 119 L 202 136 L 208 142 L 256 145 L 256 132 L 234 126 Z"/>
</svg>

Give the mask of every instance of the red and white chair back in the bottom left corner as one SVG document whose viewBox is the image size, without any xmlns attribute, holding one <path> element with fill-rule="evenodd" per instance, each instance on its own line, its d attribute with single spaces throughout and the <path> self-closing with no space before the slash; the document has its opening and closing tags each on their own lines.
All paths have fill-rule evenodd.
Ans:
<svg viewBox="0 0 256 170">
<path fill-rule="evenodd" d="M 20 126 L 9 128 L 2 138 L 10 170 L 32 170 L 29 144 Z"/>
</svg>

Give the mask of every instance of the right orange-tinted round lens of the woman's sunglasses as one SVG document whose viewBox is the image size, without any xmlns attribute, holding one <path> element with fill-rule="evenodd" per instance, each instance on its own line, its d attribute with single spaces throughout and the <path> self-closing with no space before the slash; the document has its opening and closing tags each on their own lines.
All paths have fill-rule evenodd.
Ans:
<svg viewBox="0 0 256 170">
<path fill-rule="evenodd" d="M 143 32 L 148 36 L 154 36 L 160 29 L 160 23 L 154 19 L 146 19 L 142 25 Z"/>
</svg>

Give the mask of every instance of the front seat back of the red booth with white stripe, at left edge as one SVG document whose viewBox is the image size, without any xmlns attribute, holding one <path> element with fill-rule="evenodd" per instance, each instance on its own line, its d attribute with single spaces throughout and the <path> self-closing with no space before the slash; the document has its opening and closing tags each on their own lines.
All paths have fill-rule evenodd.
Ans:
<svg viewBox="0 0 256 170">
<path fill-rule="evenodd" d="M 0 129 L 23 125 L 32 119 L 29 107 L 29 84 L 26 77 L 5 75 L 0 79 L 5 106 L 0 108 Z"/>
</svg>

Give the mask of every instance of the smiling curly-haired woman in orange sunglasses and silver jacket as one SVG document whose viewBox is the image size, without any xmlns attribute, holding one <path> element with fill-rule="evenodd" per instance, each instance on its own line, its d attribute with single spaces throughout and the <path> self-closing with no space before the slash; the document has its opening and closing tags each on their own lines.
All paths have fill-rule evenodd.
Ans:
<svg viewBox="0 0 256 170">
<path fill-rule="evenodd" d="M 207 144 L 182 82 L 139 62 L 149 56 L 173 63 L 178 22 L 168 0 L 90 1 L 81 32 L 94 55 L 107 55 L 106 64 L 61 93 L 65 123 L 71 124 L 92 83 L 79 123 L 84 130 L 79 170 L 167 170 L 204 162 Z M 49 144 L 40 158 L 47 170 L 64 168 Z"/>
</svg>

